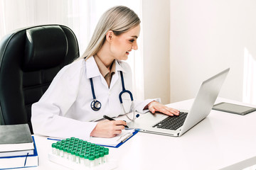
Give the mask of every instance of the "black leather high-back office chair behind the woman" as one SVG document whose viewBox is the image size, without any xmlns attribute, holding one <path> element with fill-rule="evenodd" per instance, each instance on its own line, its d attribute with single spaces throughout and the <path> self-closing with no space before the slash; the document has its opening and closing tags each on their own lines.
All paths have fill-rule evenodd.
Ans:
<svg viewBox="0 0 256 170">
<path fill-rule="evenodd" d="M 79 57 L 78 40 L 60 25 L 23 28 L 0 42 L 0 124 L 28 123 L 31 105 L 59 70 Z"/>
</svg>

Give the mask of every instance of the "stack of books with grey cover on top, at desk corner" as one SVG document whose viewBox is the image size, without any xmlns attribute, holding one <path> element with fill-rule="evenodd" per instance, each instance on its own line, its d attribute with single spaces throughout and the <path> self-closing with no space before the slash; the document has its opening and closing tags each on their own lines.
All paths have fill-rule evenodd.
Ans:
<svg viewBox="0 0 256 170">
<path fill-rule="evenodd" d="M 38 153 L 28 124 L 0 125 L 0 169 L 33 166 L 38 166 Z"/>
</svg>

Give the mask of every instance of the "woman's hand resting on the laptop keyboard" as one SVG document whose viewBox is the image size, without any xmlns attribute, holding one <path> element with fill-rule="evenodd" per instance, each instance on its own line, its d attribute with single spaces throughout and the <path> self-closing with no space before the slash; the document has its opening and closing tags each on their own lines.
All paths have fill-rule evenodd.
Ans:
<svg viewBox="0 0 256 170">
<path fill-rule="evenodd" d="M 166 115 L 179 115 L 179 111 L 175 108 L 169 108 L 157 101 L 151 101 L 149 104 L 148 104 L 148 108 L 149 108 L 149 111 L 151 111 L 151 113 L 156 113 L 157 112 L 161 112 L 161 113 L 164 113 Z"/>
</svg>

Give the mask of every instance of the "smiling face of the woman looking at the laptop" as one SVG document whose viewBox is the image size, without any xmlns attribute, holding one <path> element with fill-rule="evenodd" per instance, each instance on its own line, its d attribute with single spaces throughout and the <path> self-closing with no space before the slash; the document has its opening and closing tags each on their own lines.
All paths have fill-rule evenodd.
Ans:
<svg viewBox="0 0 256 170">
<path fill-rule="evenodd" d="M 129 52 L 137 50 L 137 38 L 139 38 L 140 26 L 136 26 L 121 35 L 113 35 L 110 52 L 114 59 L 127 60 Z"/>
</svg>

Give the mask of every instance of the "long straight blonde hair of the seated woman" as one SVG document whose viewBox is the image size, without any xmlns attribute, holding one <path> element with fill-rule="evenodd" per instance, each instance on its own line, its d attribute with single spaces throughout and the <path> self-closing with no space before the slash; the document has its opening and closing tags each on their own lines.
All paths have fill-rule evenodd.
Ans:
<svg viewBox="0 0 256 170">
<path fill-rule="evenodd" d="M 137 14 L 126 6 L 110 8 L 101 16 L 87 49 L 79 59 L 86 58 L 87 60 L 95 55 L 105 42 L 107 31 L 112 30 L 114 35 L 120 35 L 138 26 L 140 22 Z"/>
</svg>

